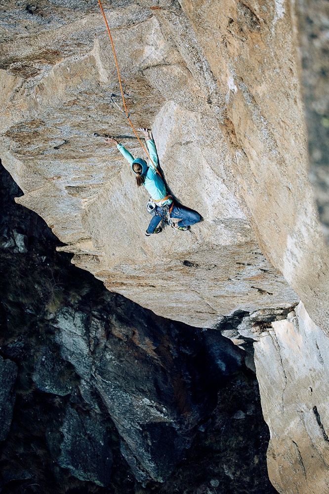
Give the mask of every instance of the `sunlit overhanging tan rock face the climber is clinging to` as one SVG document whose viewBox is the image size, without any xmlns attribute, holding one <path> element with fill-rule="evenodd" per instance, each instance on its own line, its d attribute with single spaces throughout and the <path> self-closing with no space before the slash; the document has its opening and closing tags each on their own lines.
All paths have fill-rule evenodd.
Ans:
<svg viewBox="0 0 329 494">
<path fill-rule="evenodd" d="M 122 136 L 141 153 L 109 103 L 119 88 L 104 22 L 78 3 L 77 19 L 51 30 L 60 58 L 52 66 L 37 63 L 49 48 L 49 26 L 32 44 L 21 35 L 2 45 L 1 156 L 24 191 L 19 201 L 69 244 L 77 265 L 158 314 L 209 327 L 237 309 L 289 306 L 298 298 L 261 254 L 246 217 L 218 81 L 179 4 L 150 6 L 107 10 L 127 104 L 136 127 L 152 125 L 173 194 L 204 222 L 146 242 L 148 196 L 118 151 L 93 136 Z M 63 22 L 69 13 L 63 9 Z"/>
</svg>

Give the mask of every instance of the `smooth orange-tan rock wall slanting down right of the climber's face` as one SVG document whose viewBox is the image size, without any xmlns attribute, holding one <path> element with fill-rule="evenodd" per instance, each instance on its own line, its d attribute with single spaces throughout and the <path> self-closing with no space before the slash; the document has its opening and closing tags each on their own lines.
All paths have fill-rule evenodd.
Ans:
<svg viewBox="0 0 329 494">
<path fill-rule="evenodd" d="M 226 134 L 234 135 L 234 173 L 262 251 L 282 271 L 311 317 L 328 329 L 329 255 L 307 177 L 291 5 L 231 0 L 181 0 L 181 5 L 226 92 L 232 128 Z"/>
</svg>

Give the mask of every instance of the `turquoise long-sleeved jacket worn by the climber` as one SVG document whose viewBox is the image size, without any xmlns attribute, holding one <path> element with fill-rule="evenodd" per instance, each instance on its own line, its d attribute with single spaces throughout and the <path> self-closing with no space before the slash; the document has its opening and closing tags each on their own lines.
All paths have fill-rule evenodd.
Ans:
<svg viewBox="0 0 329 494">
<path fill-rule="evenodd" d="M 143 185 L 154 201 L 161 201 L 161 199 L 164 199 L 168 195 L 168 193 L 165 189 L 165 185 L 162 177 L 157 172 L 157 167 L 159 165 L 159 158 L 154 144 L 154 140 L 148 139 L 146 142 L 151 160 L 153 161 L 154 165 L 152 162 L 149 162 L 149 167 L 147 169 L 146 174 L 144 175 L 145 182 L 143 183 Z M 124 156 L 124 158 L 127 160 L 127 162 L 130 163 L 130 165 L 132 165 L 132 162 L 134 161 L 134 157 L 129 153 L 129 151 L 127 151 L 122 144 L 118 144 L 117 148 L 119 149 L 120 153 Z M 171 203 L 171 201 L 168 200 L 168 203 Z"/>
</svg>

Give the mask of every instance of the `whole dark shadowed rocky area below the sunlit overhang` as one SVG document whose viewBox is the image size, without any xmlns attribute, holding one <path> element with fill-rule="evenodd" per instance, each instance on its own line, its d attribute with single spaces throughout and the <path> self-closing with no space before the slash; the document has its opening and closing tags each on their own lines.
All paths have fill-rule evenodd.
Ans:
<svg viewBox="0 0 329 494">
<path fill-rule="evenodd" d="M 1 167 L 1 492 L 276 492 L 243 351 L 107 291 L 19 194 Z"/>
</svg>

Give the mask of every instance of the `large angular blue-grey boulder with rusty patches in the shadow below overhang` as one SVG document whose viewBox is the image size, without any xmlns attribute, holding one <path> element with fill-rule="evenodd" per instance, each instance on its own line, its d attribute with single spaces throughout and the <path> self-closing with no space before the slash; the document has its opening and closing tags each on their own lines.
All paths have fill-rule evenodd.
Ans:
<svg viewBox="0 0 329 494">
<path fill-rule="evenodd" d="M 91 314 L 59 311 L 56 340 L 82 378 L 83 399 L 97 410 L 91 388 L 101 396 L 137 480 L 161 482 L 211 410 L 212 387 L 239 369 L 242 355 L 215 329 L 170 325 L 128 301 L 117 302 L 113 315 L 107 304 Z"/>
</svg>

